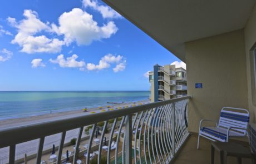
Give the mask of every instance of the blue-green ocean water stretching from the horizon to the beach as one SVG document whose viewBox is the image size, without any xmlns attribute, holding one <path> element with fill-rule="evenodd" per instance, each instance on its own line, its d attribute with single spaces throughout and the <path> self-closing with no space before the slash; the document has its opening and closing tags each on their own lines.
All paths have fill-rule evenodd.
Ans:
<svg viewBox="0 0 256 164">
<path fill-rule="evenodd" d="M 149 91 L 0 92 L 0 120 L 148 100 Z"/>
</svg>

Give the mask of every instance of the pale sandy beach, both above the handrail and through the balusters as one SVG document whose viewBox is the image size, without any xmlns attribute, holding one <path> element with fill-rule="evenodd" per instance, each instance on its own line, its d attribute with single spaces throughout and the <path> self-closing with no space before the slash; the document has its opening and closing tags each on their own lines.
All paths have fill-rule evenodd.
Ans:
<svg viewBox="0 0 256 164">
<path fill-rule="evenodd" d="M 109 108 L 116 109 L 118 107 L 125 107 L 125 106 L 131 106 L 131 105 L 139 105 L 140 103 L 149 103 L 149 100 L 144 100 L 144 101 L 137 101 L 137 102 L 128 102 L 128 103 L 121 103 L 121 104 L 113 104 L 109 103 Z M 52 114 L 47 114 L 47 115 L 39 115 L 39 116 L 31 116 L 31 117 L 26 117 L 26 118 L 15 118 L 15 119 L 9 119 L 9 120 L 1 120 L 0 121 L 0 130 L 6 129 L 6 128 L 12 128 L 12 127 L 18 127 L 18 126 L 26 126 L 26 125 L 31 125 L 34 123 L 41 123 L 41 122 L 46 122 L 46 121 L 51 121 L 51 120 L 61 120 L 63 118 L 71 118 L 71 117 L 77 117 L 77 116 L 82 116 L 82 115 L 90 115 L 90 112 L 101 112 L 101 110 L 108 110 L 107 106 L 102 107 L 101 109 L 99 107 L 97 108 L 87 108 L 87 112 L 83 112 L 81 110 L 77 111 L 67 111 L 67 112 L 59 112 L 59 113 L 52 113 Z M 77 136 L 78 129 L 71 130 L 67 132 L 65 142 L 69 142 L 71 138 L 74 138 Z M 84 134 L 83 134 L 84 135 Z M 56 135 L 52 136 L 47 136 L 45 138 L 45 144 L 44 144 L 44 149 L 52 147 L 53 144 L 58 145 L 60 141 L 60 136 L 61 134 L 58 133 Z M 39 143 L 39 140 L 33 140 L 33 141 L 28 141 L 24 143 L 20 143 L 16 145 L 16 156 L 18 155 L 23 156 L 24 153 L 36 153 L 37 151 L 37 145 Z M 9 148 L 1 148 L 0 149 L 0 161 L 8 159 L 8 154 L 9 154 Z M 16 157 L 16 158 L 17 158 Z"/>
</svg>

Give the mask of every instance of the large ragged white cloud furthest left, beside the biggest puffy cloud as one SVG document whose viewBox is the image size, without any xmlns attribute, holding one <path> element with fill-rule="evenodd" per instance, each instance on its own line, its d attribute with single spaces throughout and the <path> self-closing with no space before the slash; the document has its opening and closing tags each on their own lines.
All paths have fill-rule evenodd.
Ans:
<svg viewBox="0 0 256 164">
<path fill-rule="evenodd" d="M 61 51 L 62 45 L 64 44 L 63 41 L 57 38 L 50 39 L 44 35 L 35 36 L 35 34 L 42 31 L 52 31 L 46 23 L 38 19 L 37 12 L 25 9 L 23 16 L 25 18 L 19 22 L 17 22 L 15 18 L 7 18 L 9 24 L 16 27 L 18 30 L 18 33 L 11 43 L 18 44 L 22 47 L 21 51 L 26 53 L 57 53 Z"/>
</svg>

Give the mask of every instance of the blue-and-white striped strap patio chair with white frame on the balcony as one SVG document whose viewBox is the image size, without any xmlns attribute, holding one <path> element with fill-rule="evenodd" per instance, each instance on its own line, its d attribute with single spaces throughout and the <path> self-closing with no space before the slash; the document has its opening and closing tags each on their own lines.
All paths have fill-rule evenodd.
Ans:
<svg viewBox="0 0 256 164">
<path fill-rule="evenodd" d="M 249 123 L 249 112 L 242 108 L 223 107 L 220 112 L 219 123 L 216 127 L 201 127 L 204 121 L 199 123 L 198 146 L 200 136 L 211 141 L 228 142 L 229 137 L 244 137 L 247 136 L 247 128 Z"/>
</svg>

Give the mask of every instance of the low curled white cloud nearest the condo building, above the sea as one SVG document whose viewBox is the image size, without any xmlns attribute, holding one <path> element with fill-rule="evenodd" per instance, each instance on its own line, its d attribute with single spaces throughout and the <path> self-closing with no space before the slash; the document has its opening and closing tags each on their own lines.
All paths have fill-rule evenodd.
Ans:
<svg viewBox="0 0 256 164">
<path fill-rule="evenodd" d="M 109 68 L 112 63 L 115 63 L 116 66 L 113 68 L 114 72 L 124 71 L 126 60 L 123 56 L 114 56 L 112 54 L 106 54 L 104 57 L 102 57 L 99 61 L 99 64 L 93 64 L 93 63 L 87 63 L 86 68 L 89 71 L 93 70 L 102 70 Z"/>
</svg>

